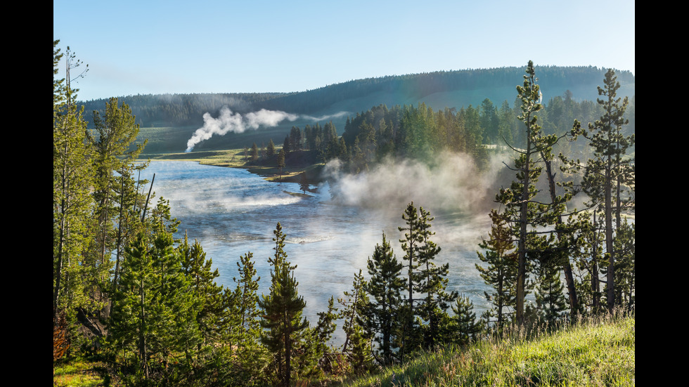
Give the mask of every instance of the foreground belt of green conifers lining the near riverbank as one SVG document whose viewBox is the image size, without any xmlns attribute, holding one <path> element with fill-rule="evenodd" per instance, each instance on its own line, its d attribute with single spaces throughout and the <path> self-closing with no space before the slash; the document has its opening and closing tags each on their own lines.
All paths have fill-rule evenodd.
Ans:
<svg viewBox="0 0 689 387">
<path fill-rule="evenodd" d="M 55 79 L 61 64 L 66 77 Z M 94 129 L 87 129 L 71 87 L 81 66 L 69 47 L 62 53 L 53 41 L 53 360 L 98 354 L 133 385 L 290 386 L 369 372 L 418 350 L 465 345 L 536 316 L 554 321 L 634 307 L 634 226 L 623 221 L 635 208 L 634 162 L 625 155 L 634 140 L 624 136 L 628 100 L 616 98 L 612 70 L 599 90 L 605 113 L 587 129 L 575 121 L 558 135 L 541 130 L 539 86 L 532 63 L 527 66 L 524 85 L 517 88 L 525 144 L 515 147 L 515 181 L 496 195 L 493 227 L 477 253 L 484 263 L 477 270 L 494 289 L 487 294 L 487 313 L 477 318 L 468 298 L 447 290 L 450 268 L 435 262 L 441 247 L 432 241 L 434 218 L 410 202 L 399 227 L 403 256 L 397 258 L 383 234 L 368 257 L 368 275 L 359 270 L 352 289 L 337 304 L 331 297 L 318 321 L 309 322 L 280 223 L 273 231 L 267 294 L 257 294 L 260 279 L 250 251 L 237 263 L 234 286 L 223 287 L 200 244 L 175 239 L 179 221 L 169 202 L 155 202 L 155 175 L 151 181 L 139 178 L 146 163 L 136 159 L 145 143 L 131 146 L 139 125 L 129 106 L 112 98 L 93 112 Z M 399 127 L 407 128 L 401 136 L 405 155 L 420 155 L 416 150 L 423 146 L 415 147 L 430 143 L 420 138 L 432 128 L 435 113 L 423 107 L 392 110 Z M 384 129 L 385 112 L 380 107 Z M 356 117 L 345 133 L 355 133 L 354 122 L 358 128 L 372 125 Z M 326 152 L 335 141 L 347 144 L 326 126 L 309 128 L 300 141 L 295 129 L 283 149 Z M 362 133 L 347 138 L 356 144 L 366 137 Z M 588 141 L 592 157 L 581 162 L 561 155 L 556 163 L 554 145 L 574 138 Z M 556 181 L 555 164 L 562 174 L 580 173 L 581 184 Z M 560 190 L 538 192 L 542 173 Z M 568 209 L 579 192 L 587 195 L 586 209 Z M 529 308 L 532 289 L 536 304 Z M 569 308 L 563 306 L 567 300 Z M 338 321 L 345 341 L 334 348 L 330 338 Z"/>
</svg>

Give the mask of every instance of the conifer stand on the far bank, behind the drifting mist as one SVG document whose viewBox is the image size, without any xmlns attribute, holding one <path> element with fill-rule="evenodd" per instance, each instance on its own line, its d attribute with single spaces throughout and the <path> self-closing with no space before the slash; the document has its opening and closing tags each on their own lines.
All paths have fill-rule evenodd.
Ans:
<svg viewBox="0 0 689 387">
<path fill-rule="evenodd" d="M 352 173 L 366 171 L 389 157 L 432 159 L 442 151 L 472 155 L 479 166 L 485 166 L 489 155 L 485 145 L 503 147 L 507 143 L 516 148 L 526 145 L 527 135 L 517 118 L 521 106 L 518 97 L 511 106 L 503 101 L 498 107 L 486 98 L 478 107 L 469 105 L 460 110 L 446 107 L 436 111 L 425 103 L 389 108 L 381 104 L 347 117 L 342 136 L 337 136 L 333 122 L 325 126 L 307 125 L 304 129 L 292 126 L 283 141 L 283 151 L 285 155 L 294 151 L 312 152 L 315 154 L 312 158 L 320 162 L 338 159 Z M 541 104 L 539 125 L 543 134 L 562 136 L 569 132 L 575 117 L 581 122 L 595 122 L 602 114 L 602 105 L 589 100 L 577 102 L 571 91 L 566 91 L 563 96 Z M 628 124 L 621 129 L 622 134 L 629 136 L 636 131 L 634 117 L 632 98 L 624 110 Z M 588 157 L 590 149 L 585 143 L 565 140 L 555 146 L 565 155 L 584 157 Z M 252 151 L 253 161 L 259 156 Z"/>
</svg>

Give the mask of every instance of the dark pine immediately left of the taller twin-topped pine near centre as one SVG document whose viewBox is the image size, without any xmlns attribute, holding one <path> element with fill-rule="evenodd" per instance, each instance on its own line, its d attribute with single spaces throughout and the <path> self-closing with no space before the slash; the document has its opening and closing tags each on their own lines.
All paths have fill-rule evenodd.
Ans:
<svg viewBox="0 0 689 387">
<path fill-rule="evenodd" d="M 368 258 L 368 275 L 366 293 L 370 303 L 366 306 L 366 324 L 368 330 L 376 334 L 382 364 L 394 361 L 395 351 L 399 347 L 400 320 L 397 311 L 402 305 L 400 292 L 404 289 L 401 271 L 404 265 L 397 261 L 389 242 L 382 235 L 382 244 L 376 244 L 373 256 Z"/>
</svg>

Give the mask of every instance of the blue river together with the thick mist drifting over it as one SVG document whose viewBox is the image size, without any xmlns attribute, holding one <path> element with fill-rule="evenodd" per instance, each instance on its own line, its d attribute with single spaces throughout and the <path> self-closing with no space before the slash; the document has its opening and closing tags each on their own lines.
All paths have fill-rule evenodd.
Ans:
<svg viewBox="0 0 689 387">
<path fill-rule="evenodd" d="M 490 220 L 487 211 L 472 210 L 485 202 L 475 195 L 480 191 L 476 175 L 467 166 L 448 172 L 404 167 L 404 172 L 388 167 L 385 173 L 337 176 L 332 187 L 321 185 L 306 197 L 290 194 L 302 192 L 297 183 L 271 183 L 245 169 L 196 162 L 153 161 L 141 177 L 150 181 L 155 173 L 156 198 L 150 205 L 157 197 L 169 199 L 172 216 L 181 222 L 176 237 L 186 232 L 190 243 L 198 240 L 219 271 L 217 282 L 230 289 L 236 286 L 240 256 L 251 252 L 261 277 L 258 293 L 267 294 L 273 230 L 281 223 L 285 252 L 297 265 L 298 291 L 307 301 L 305 316 L 312 326 L 318 322 L 316 313 L 327 310 L 330 296 L 337 306 L 337 297 L 352 288 L 359 269 L 368 278 L 366 261 L 382 232 L 397 258 L 404 256 L 397 227 L 404 226 L 401 215 L 413 201 L 434 216 L 432 240 L 442 249 L 437 264 L 450 266 L 448 290 L 469 296 L 480 315 L 487 308 L 484 291 L 491 289 L 475 268 L 476 251 Z M 453 183 L 434 180 L 448 178 L 443 173 Z M 338 195 L 333 197 L 331 190 Z M 344 340 L 340 325 L 335 344 Z"/>
</svg>

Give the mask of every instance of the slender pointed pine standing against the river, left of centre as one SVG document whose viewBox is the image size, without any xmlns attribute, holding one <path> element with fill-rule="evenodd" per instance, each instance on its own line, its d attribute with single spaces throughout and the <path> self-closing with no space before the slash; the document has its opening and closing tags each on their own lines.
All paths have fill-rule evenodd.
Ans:
<svg viewBox="0 0 689 387">
<path fill-rule="evenodd" d="M 285 235 L 278 223 L 273 231 L 275 237 L 275 255 L 269 258 L 271 269 L 271 287 L 268 295 L 259 299 L 263 318 L 261 342 L 273 355 L 276 383 L 279 386 L 290 386 L 297 369 L 293 364 L 295 353 L 304 345 L 302 340 L 307 332 L 309 322 L 302 317 L 306 301 L 297 294 L 299 284 L 294 277 L 296 265 L 287 261 L 284 251 Z M 304 367 L 305 365 L 300 365 Z"/>
</svg>

